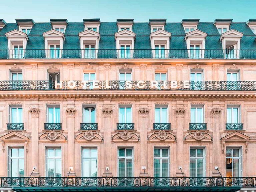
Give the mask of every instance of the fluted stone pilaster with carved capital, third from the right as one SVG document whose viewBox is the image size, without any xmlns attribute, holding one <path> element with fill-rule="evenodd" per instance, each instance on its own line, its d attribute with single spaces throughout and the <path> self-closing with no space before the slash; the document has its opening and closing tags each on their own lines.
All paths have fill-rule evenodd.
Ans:
<svg viewBox="0 0 256 192">
<path fill-rule="evenodd" d="M 148 113 L 147 108 L 139 109 L 140 116 L 140 177 L 148 177 L 148 145 L 147 145 L 147 125 L 148 125 Z M 142 169 L 145 168 L 144 169 Z M 144 172 L 145 171 L 145 172 Z"/>
</svg>

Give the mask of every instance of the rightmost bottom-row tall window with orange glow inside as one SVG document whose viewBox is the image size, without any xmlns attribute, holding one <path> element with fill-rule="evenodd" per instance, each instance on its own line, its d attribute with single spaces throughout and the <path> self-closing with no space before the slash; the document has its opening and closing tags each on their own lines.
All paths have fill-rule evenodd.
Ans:
<svg viewBox="0 0 256 192">
<path fill-rule="evenodd" d="M 242 177 L 242 151 L 240 148 L 226 149 L 226 177 Z"/>
</svg>

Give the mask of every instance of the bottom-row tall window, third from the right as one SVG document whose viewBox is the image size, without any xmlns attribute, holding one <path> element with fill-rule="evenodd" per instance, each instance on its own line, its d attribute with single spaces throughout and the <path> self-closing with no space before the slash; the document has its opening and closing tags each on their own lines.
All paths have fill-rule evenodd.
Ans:
<svg viewBox="0 0 256 192">
<path fill-rule="evenodd" d="M 169 176 L 169 150 L 154 149 L 154 177 Z"/>
</svg>

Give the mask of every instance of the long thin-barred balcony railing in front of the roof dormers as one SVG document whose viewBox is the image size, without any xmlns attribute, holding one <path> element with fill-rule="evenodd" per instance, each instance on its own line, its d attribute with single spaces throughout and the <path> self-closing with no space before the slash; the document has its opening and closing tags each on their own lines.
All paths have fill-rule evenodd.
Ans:
<svg viewBox="0 0 256 192">
<path fill-rule="evenodd" d="M 0 50 L 0 59 L 256 59 L 256 49 L 25 49 Z"/>
</svg>

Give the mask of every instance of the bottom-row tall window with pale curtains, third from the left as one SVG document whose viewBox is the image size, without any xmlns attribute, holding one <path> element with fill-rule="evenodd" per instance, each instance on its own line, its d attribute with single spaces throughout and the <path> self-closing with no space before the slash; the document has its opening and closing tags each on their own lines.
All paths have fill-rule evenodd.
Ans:
<svg viewBox="0 0 256 192">
<path fill-rule="evenodd" d="M 82 149 L 82 177 L 97 177 L 97 149 Z"/>
</svg>

